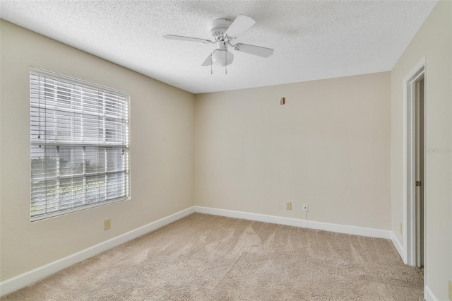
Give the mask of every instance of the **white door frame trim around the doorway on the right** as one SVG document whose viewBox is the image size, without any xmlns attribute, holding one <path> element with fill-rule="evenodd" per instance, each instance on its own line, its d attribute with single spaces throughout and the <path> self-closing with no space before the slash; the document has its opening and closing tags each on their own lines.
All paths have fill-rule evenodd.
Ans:
<svg viewBox="0 0 452 301">
<path fill-rule="evenodd" d="M 415 68 L 403 79 L 403 261 L 417 264 L 416 194 L 415 194 L 415 83 L 424 77 L 424 275 L 427 259 L 427 57 L 422 57 Z"/>
</svg>

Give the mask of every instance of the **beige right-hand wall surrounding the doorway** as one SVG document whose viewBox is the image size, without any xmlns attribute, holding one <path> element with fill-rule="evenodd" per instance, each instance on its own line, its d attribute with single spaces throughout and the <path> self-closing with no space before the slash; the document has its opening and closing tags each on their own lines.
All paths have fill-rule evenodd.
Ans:
<svg viewBox="0 0 452 301">
<path fill-rule="evenodd" d="M 439 1 L 400 57 L 391 79 L 391 199 L 392 230 L 403 242 L 403 78 L 427 56 L 427 148 L 452 146 L 451 1 Z M 452 279 L 451 153 L 427 153 L 426 285 L 439 300 L 448 299 Z"/>
</svg>

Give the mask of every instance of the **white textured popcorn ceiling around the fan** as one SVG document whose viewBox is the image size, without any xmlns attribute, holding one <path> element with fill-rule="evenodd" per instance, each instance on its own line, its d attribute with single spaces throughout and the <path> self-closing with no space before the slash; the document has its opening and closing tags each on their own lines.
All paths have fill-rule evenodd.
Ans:
<svg viewBox="0 0 452 301">
<path fill-rule="evenodd" d="M 251 88 L 390 71 L 435 1 L 23 1 L 1 0 L 0 16 L 17 25 L 191 93 Z M 237 37 L 275 49 L 273 56 L 234 52 L 227 75 L 201 64 L 216 45 L 210 20 L 251 16 Z"/>
</svg>

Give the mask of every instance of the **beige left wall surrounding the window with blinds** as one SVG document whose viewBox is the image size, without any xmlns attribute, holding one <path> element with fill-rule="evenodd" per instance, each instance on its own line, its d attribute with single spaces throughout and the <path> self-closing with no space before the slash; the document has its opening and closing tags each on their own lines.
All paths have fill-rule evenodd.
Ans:
<svg viewBox="0 0 452 301">
<path fill-rule="evenodd" d="M 30 223 L 30 65 L 130 93 L 130 201 Z M 0 129 L 2 281 L 194 205 L 194 95 L 4 20 Z"/>
</svg>

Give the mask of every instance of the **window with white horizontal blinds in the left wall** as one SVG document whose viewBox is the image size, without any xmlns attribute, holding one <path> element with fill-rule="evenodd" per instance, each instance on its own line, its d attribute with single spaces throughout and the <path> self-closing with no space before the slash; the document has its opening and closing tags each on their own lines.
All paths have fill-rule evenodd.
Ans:
<svg viewBox="0 0 452 301">
<path fill-rule="evenodd" d="M 30 69 L 32 220 L 129 199 L 129 95 Z"/>
</svg>

